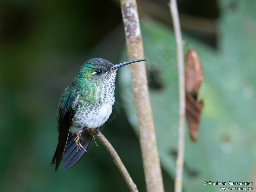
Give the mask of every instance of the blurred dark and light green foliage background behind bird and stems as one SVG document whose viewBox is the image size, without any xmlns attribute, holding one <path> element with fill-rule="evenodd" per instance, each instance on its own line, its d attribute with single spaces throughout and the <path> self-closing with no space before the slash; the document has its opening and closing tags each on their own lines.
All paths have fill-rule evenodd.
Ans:
<svg viewBox="0 0 256 192">
<path fill-rule="evenodd" d="M 166 0 L 138 0 L 165 191 L 173 191 L 178 81 Z M 256 1 L 178 0 L 183 39 L 204 69 L 197 143 L 186 131 L 184 191 L 204 181 L 256 183 Z M 118 1 L 0 1 L 0 191 L 128 191 L 113 160 L 92 142 L 68 171 L 50 167 L 61 92 L 88 59 L 127 60 Z M 145 191 L 129 67 L 101 132 Z"/>
</svg>

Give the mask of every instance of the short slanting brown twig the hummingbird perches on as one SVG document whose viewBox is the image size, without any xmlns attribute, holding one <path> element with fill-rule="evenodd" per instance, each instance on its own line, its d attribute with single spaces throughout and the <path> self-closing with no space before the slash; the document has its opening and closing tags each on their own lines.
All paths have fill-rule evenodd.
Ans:
<svg viewBox="0 0 256 192">
<path fill-rule="evenodd" d="M 119 169 L 121 172 L 128 188 L 132 192 L 138 192 L 137 186 L 133 182 L 131 176 L 129 175 L 128 171 L 126 170 L 123 162 L 121 161 L 120 157 L 116 153 L 116 150 L 113 148 L 113 146 L 109 143 L 109 141 L 106 139 L 106 137 L 99 132 L 96 137 L 100 140 L 100 142 L 106 147 L 108 150 L 108 153 L 112 156 L 114 163 L 116 164 L 116 167 Z"/>
</svg>

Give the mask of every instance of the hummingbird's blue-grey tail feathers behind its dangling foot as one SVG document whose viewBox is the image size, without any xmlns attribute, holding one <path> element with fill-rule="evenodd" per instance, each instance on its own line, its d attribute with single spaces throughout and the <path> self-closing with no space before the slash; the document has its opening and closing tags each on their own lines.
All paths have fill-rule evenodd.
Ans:
<svg viewBox="0 0 256 192">
<path fill-rule="evenodd" d="M 74 141 L 76 134 L 69 134 L 68 136 L 68 142 L 63 154 L 63 168 L 64 170 L 68 170 L 72 166 L 74 166 L 84 155 L 84 149 L 81 148 L 81 150 L 78 149 L 77 153 L 77 146 L 76 141 Z M 89 131 L 85 131 L 80 136 L 80 144 L 87 150 L 89 147 L 91 141 L 92 141 L 92 135 Z"/>
</svg>

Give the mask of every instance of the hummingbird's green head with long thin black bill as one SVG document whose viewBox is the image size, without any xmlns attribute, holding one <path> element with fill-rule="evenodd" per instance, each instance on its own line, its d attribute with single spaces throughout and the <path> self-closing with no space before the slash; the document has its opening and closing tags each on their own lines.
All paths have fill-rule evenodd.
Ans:
<svg viewBox="0 0 256 192">
<path fill-rule="evenodd" d="M 101 83 L 108 81 L 109 78 L 115 79 L 116 77 L 116 70 L 119 67 L 124 65 L 128 65 L 131 63 L 145 61 L 145 59 L 140 60 L 132 60 L 127 61 L 124 63 L 113 64 L 108 60 L 101 59 L 101 58 L 93 58 L 84 63 L 80 68 L 78 73 L 78 77 L 81 80 L 84 79 L 86 82 L 93 82 L 93 83 Z"/>
</svg>

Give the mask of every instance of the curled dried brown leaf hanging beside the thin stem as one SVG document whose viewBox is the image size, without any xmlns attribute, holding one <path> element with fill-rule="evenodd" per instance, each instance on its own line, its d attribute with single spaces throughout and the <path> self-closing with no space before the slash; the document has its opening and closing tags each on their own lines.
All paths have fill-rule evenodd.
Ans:
<svg viewBox="0 0 256 192">
<path fill-rule="evenodd" d="M 200 85 L 204 80 L 200 59 L 194 49 L 189 49 L 186 54 L 185 88 L 186 88 L 186 119 L 190 139 L 197 140 L 198 126 L 200 123 L 203 101 L 196 101 Z"/>
</svg>

